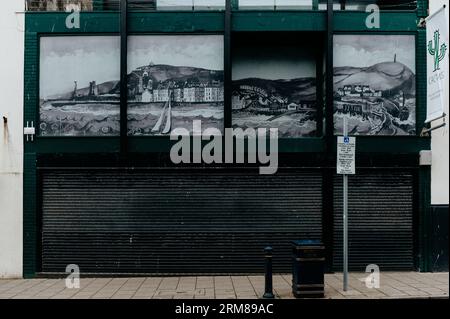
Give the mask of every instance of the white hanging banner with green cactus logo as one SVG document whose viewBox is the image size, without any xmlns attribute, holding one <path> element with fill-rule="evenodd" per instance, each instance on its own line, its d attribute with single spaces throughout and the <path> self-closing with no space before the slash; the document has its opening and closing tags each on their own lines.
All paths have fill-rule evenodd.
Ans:
<svg viewBox="0 0 450 319">
<path fill-rule="evenodd" d="M 448 78 L 447 21 L 445 7 L 426 19 L 427 23 L 427 119 L 434 121 L 444 115 Z"/>
</svg>

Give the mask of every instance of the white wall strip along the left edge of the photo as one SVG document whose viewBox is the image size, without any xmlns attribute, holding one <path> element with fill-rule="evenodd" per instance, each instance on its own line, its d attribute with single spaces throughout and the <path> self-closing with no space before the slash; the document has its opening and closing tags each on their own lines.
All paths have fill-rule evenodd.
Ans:
<svg viewBox="0 0 450 319">
<path fill-rule="evenodd" d="M 0 10 L 0 278 L 22 277 L 24 2 Z M 3 121 L 7 118 L 7 123 Z"/>
</svg>

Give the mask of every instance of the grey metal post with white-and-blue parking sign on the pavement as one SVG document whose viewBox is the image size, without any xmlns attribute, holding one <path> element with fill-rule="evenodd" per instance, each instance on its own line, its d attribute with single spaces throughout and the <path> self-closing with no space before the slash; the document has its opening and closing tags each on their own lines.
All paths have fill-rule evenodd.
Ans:
<svg viewBox="0 0 450 319">
<path fill-rule="evenodd" d="M 338 136 L 337 173 L 343 175 L 343 273 L 344 291 L 348 289 L 348 175 L 355 174 L 356 139 L 348 136 L 347 118 L 344 117 L 343 135 Z"/>
</svg>

